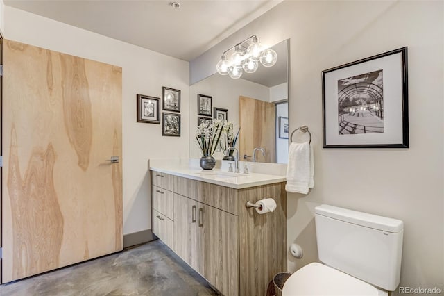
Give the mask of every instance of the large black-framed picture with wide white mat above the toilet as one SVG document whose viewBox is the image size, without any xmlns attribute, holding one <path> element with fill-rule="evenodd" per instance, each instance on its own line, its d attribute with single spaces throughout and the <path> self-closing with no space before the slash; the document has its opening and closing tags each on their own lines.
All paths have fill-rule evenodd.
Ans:
<svg viewBox="0 0 444 296">
<path fill-rule="evenodd" d="M 327 69 L 324 148 L 408 148 L 407 47 Z"/>
</svg>

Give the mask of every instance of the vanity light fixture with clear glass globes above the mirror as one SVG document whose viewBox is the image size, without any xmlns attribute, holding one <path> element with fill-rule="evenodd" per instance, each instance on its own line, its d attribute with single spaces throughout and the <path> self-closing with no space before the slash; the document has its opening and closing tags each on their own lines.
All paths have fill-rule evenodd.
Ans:
<svg viewBox="0 0 444 296">
<path fill-rule="evenodd" d="M 234 52 L 227 59 L 228 51 Z M 278 54 L 273 49 L 264 49 L 256 35 L 223 51 L 221 60 L 216 65 L 216 70 L 221 75 L 229 75 L 232 79 L 238 79 L 243 72 L 254 73 L 259 68 L 259 63 L 264 67 L 275 65 Z"/>
</svg>

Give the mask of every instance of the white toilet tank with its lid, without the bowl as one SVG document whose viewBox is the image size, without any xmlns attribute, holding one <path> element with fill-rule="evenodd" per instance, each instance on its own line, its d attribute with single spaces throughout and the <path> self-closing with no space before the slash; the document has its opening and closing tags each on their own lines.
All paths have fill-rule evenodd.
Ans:
<svg viewBox="0 0 444 296">
<path fill-rule="evenodd" d="M 398 287 L 404 233 L 401 220 L 326 204 L 314 211 L 321 262 L 385 290 Z"/>
</svg>

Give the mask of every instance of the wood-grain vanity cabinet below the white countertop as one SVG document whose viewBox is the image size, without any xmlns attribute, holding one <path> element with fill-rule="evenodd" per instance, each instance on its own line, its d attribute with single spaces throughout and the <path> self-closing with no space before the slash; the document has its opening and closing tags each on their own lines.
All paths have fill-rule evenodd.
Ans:
<svg viewBox="0 0 444 296">
<path fill-rule="evenodd" d="M 153 233 L 223 295 L 266 295 L 287 270 L 285 182 L 220 184 L 151 168 Z M 246 208 L 267 197 L 273 213 Z"/>
</svg>

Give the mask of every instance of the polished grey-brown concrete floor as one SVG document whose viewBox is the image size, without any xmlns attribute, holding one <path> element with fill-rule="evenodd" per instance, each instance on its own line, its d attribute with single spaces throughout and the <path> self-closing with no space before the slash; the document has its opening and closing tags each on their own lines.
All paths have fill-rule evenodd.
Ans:
<svg viewBox="0 0 444 296">
<path fill-rule="evenodd" d="M 0 295 L 219 295 L 160 240 L 0 286 Z"/>
</svg>

